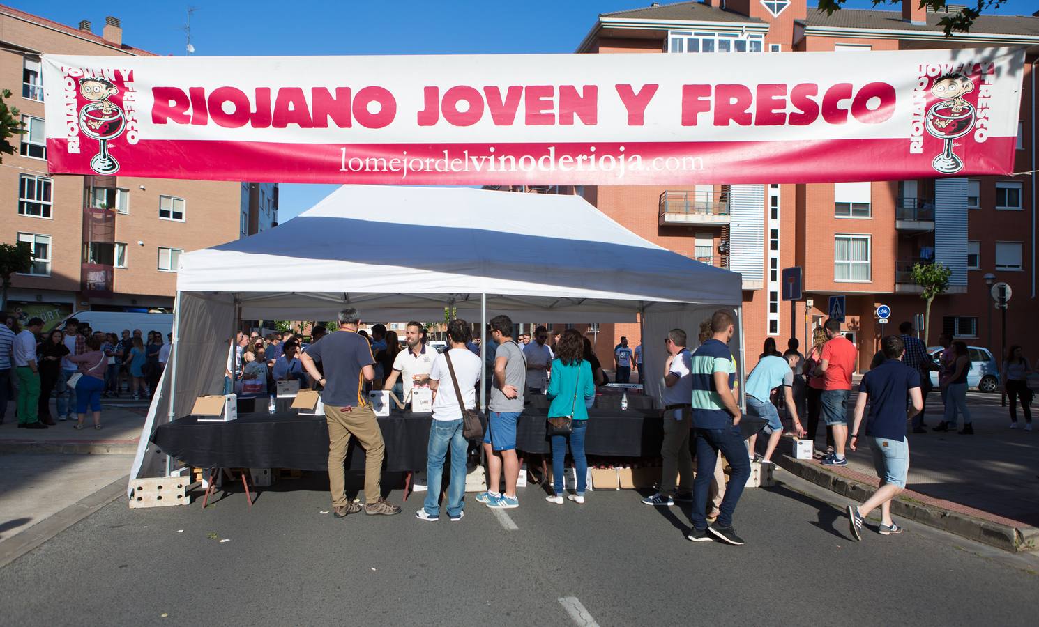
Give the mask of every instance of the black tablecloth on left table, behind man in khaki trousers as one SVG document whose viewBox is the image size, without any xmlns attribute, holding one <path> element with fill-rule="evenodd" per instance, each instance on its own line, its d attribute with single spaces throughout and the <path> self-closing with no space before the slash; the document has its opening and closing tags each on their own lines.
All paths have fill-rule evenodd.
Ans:
<svg viewBox="0 0 1039 627">
<path fill-rule="evenodd" d="M 378 420 L 385 441 L 383 468 L 424 469 L 432 418 L 394 413 Z M 198 468 L 328 469 L 324 416 L 252 413 L 230 422 L 199 422 L 188 416 L 160 426 L 152 441 L 164 454 Z M 365 449 L 352 439 L 346 467 L 365 468 Z"/>
</svg>

